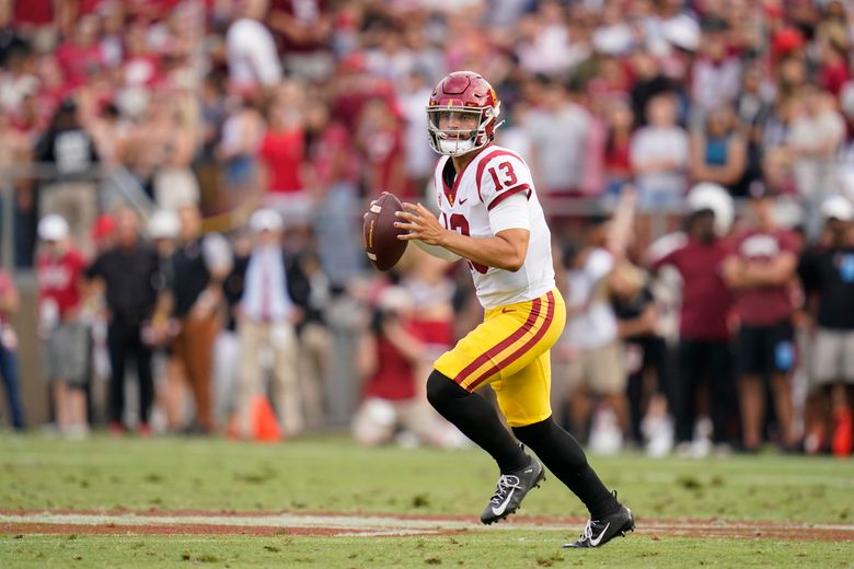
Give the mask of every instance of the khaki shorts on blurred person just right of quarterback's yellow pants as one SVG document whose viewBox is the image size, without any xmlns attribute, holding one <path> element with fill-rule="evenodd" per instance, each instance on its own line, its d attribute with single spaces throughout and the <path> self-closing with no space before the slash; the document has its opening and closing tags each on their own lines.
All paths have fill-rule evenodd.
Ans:
<svg viewBox="0 0 854 569">
<path fill-rule="evenodd" d="M 586 387 L 599 395 L 625 392 L 625 351 L 620 341 L 584 349 L 567 367 L 569 392 Z"/>
</svg>

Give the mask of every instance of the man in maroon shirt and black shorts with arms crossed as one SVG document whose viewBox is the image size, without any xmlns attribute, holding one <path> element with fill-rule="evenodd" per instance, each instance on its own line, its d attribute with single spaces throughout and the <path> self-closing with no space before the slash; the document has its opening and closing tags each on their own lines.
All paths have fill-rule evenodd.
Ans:
<svg viewBox="0 0 854 569">
<path fill-rule="evenodd" d="M 771 381 L 781 444 L 797 445 L 793 431 L 790 374 L 795 364 L 792 327 L 792 281 L 797 268 L 795 235 L 776 225 L 774 196 L 764 184 L 751 187 L 753 227 L 736 239 L 724 262 L 724 280 L 734 291 L 740 324 L 737 347 L 743 445 L 762 443 L 765 413 L 764 381 Z"/>
</svg>

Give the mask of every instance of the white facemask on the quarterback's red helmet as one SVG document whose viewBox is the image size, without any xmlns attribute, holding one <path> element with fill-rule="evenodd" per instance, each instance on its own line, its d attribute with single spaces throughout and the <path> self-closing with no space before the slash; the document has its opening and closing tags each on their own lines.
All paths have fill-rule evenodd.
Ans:
<svg viewBox="0 0 854 569">
<path fill-rule="evenodd" d="M 430 147 L 439 154 L 447 156 L 460 156 L 483 148 L 495 136 L 495 129 L 498 125 L 494 125 L 494 123 L 499 113 L 498 105 L 495 107 L 428 106 L 427 132 Z M 471 121 L 472 128 L 441 128 L 453 123 L 454 118 L 457 124 Z"/>
</svg>

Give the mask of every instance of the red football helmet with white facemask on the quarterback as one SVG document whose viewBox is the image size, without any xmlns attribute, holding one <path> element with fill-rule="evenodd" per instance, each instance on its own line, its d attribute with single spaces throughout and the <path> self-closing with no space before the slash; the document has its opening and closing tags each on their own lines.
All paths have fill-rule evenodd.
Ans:
<svg viewBox="0 0 854 569">
<path fill-rule="evenodd" d="M 496 124 L 500 106 L 493 85 L 483 77 L 454 71 L 439 81 L 427 105 L 430 146 L 449 156 L 485 147 L 500 126 Z"/>
</svg>

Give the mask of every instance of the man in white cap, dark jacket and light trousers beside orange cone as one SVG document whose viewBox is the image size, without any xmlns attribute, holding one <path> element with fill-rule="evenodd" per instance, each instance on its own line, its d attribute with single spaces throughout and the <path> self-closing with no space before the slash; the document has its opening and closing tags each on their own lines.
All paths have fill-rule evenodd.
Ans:
<svg viewBox="0 0 854 569">
<path fill-rule="evenodd" d="M 252 403 L 263 378 L 263 351 L 273 355 L 274 406 L 282 431 L 295 437 L 303 430 L 298 383 L 296 324 L 308 305 L 309 281 L 298 259 L 282 249 L 285 224 L 274 209 L 255 211 L 249 221 L 253 246 L 246 257 L 235 258 L 232 275 L 242 283 L 234 293 L 240 336 L 241 372 L 238 379 L 238 434 L 252 437 Z M 232 279 L 228 279 L 232 281 Z"/>
</svg>

